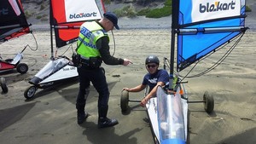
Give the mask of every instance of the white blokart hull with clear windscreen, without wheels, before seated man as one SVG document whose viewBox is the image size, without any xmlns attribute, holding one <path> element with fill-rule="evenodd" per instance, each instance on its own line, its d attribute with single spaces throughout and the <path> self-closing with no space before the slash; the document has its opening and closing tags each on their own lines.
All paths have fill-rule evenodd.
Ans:
<svg viewBox="0 0 256 144">
<path fill-rule="evenodd" d="M 161 87 L 157 97 L 151 98 L 147 105 L 148 117 L 156 142 L 161 144 L 185 144 L 188 135 L 188 103 L 180 95 L 180 88 L 174 95 L 166 94 Z"/>
</svg>

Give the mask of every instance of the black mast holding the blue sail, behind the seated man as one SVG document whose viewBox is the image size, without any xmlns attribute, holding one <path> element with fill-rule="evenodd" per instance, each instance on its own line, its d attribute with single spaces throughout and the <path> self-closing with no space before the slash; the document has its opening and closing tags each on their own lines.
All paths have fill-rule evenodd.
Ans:
<svg viewBox="0 0 256 144">
<path fill-rule="evenodd" d="M 179 0 L 172 1 L 172 39 L 171 39 L 171 57 L 170 57 L 170 78 L 169 89 L 173 90 L 173 74 L 174 74 L 174 53 L 175 53 L 175 35 L 178 26 Z"/>
</svg>

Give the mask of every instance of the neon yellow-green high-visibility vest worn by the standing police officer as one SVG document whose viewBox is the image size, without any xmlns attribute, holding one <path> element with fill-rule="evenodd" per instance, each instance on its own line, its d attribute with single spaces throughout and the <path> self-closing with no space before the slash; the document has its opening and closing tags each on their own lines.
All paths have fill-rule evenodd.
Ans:
<svg viewBox="0 0 256 144">
<path fill-rule="evenodd" d="M 77 53 L 85 59 L 101 56 L 99 49 L 96 48 L 96 41 L 104 36 L 108 37 L 108 32 L 96 21 L 84 22 L 80 28 Z"/>
</svg>

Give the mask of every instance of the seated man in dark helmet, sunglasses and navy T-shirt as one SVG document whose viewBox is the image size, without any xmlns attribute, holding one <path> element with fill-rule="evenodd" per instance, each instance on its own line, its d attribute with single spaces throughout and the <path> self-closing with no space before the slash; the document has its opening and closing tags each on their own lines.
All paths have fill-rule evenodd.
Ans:
<svg viewBox="0 0 256 144">
<path fill-rule="evenodd" d="M 143 83 L 134 88 L 124 88 L 128 92 L 139 92 L 146 88 L 148 85 L 149 91 L 141 101 L 141 106 L 145 107 L 148 100 L 156 95 L 157 86 L 165 86 L 169 82 L 169 74 L 164 69 L 158 69 L 160 60 L 155 55 L 149 55 L 145 60 L 145 66 L 148 73 L 143 78 Z"/>
</svg>

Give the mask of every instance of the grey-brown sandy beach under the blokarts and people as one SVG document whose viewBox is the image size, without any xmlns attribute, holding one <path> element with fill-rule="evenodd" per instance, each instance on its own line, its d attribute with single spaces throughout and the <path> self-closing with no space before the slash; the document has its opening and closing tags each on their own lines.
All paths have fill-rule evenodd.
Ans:
<svg viewBox="0 0 256 144">
<path fill-rule="evenodd" d="M 255 8 L 253 4 L 253 8 Z M 256 9 L 253 9 L 256 10 Z M 143 27 L 137 25 L 145 22 Z M 154 22 L 153 22 L 154 21 Z M 129 23 L 130 22 L 130 23 Z M 152 24 L 153 22 L 153 24 Z M 236 49 L 217 68 L 198 78 L 186 78 L 189 100 L 202 100 L 208 91 L 214 97 L 214 112 L 207 114 L 203 104 L 189 104 L 189 141 L 191 144 L 254 144 L 256 143 L 256 14 L 248 14 L 247 26 L 250 29 L 241 38 Z M 147 72 L 144 60 L 148 55 L 170 58 L 171 17 L 158 20 L 121 18 L 119 31 L 111 37 L 111 54 L 128 58 L 129 66 L 106 66 L 106 76 L 110 90 L 109 118 L 117 118 L 119 124 L 113 128 L 97 129 L 97 93 L 91 87 L 86 104 L 90 117 L 82 125 L 77 124 L 75 100 L 79 83 L 73 80 L 50 89 L 38 89 L 31 101 L 23 93 L 30 86 L 28 81 L 49 61 L 50 34 L 44 26 L 34 26 L 33 34 L 19 37 L 1 44 L 3 59 L 13 58 L 26 44 L 22 62 L 29 66 L 26 74 L 1 72 L 9 92 L 0 94 L 0 139 L 6 144 L 45 144 L 45 143 L 91 143 L 91 144 L 135 144 L 154 143 L 145 108 L 130 102 L 130 111 L 122 113 L 120 94 L 124 87 L 140 84 Z M 42 29 L 40 29 L 40 27 Z M 44 29 L 44 31 L 43 31 Z M 54 43 L 55 45 L 55 43 Z M 113 46 L 115 45 L 115 49 Z M 75 43 L 73 44 L 75 48 Z M 68 46 L 58 49 L 57 54 L 71 56 Z M 56 50 L 56 49 L 55 49 Z M 66 52 L 67 50 L 67 52 Z M 191 75 L 205 70 L 219 60 L 227 49 L 221 49 L 202 61 Z M 162 64 L 160 65 L 162 67 Z M 185 75 L 190 68 L 181 72 Z M 0 89 L 2 91 L 2 89 Z M 131 99 L 141 100 L 143 92 L 131 94 Z"/>
</svg>

